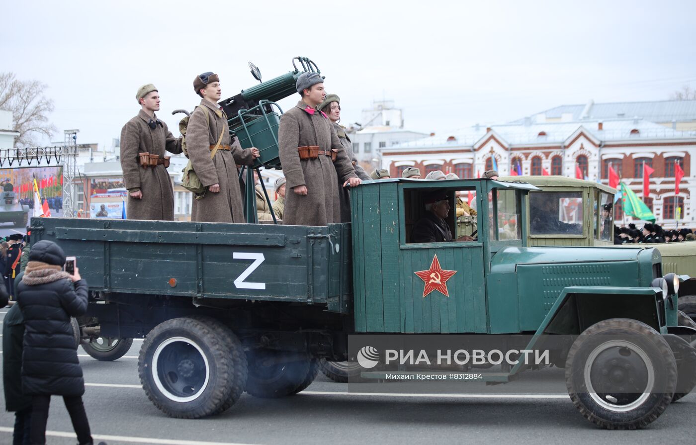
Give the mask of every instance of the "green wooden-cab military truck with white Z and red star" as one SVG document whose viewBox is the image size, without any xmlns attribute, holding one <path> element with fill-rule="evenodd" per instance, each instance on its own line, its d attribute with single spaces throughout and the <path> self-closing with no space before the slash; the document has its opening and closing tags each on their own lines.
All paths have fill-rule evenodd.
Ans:
<svg viewBox="0 0 696 445">
<path fill-rule="evenodd" d="M 475 240 L 413 242 L 436 189 L 451 208 L 457 192 L 476 193 Z M 580 413 L 604 428 L 647 426 L 696 384 L 696 329 L 677 311 L 679 279 L 663 276 L 655 249 L 528 246 L 523 202 L 536 190 L 483 179 L 367 181 L 351 189 L 351 224 L 41 218 L 32 241 L 77 255 L 90 286 L 88 328 L 145 338 L 143 389 L 170 416 L 218 414 L 243 391 L 298 393 L 319 359 L 351 357 L 354 336 L 514 334 L 531 350 L 565 335 L 573 341 L 551 357 L 566 368 Z M 446 221 L 454 233 L 454 212 Z M 531 368 L 481 375 L 503 384 Z M 637 390 L 626 393 L 623 380 Z"/>
</svg>

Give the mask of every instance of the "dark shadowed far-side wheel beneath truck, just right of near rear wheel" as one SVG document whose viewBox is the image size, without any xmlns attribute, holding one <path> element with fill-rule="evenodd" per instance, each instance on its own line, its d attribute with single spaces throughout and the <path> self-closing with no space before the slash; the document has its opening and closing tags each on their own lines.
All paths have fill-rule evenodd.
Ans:
<svg viewBox="0 0 696 445">
<path fill-rule="evenodd" d="M 251 396 L 260 398 L 291 396 L 306 382 L 310 375 L 311 359 L 287 361 L 268 366 L 262 363 L 267 357 L 276 354 L 282 354 L 282 352 L 250 352 L 248 355 L 249 375 L 246 380 L 246 392 Z"/>
</svg>

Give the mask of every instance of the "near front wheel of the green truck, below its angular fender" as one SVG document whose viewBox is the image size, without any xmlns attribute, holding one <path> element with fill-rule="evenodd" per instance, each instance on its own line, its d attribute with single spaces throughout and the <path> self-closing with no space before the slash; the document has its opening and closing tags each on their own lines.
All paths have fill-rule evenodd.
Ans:
<svg viewBox="0 0 696 445">
<path fill-rule="evenodd" d="M 568 352 L 565 378 L 585 419 L 608 430 L 635 430 L 655 421 L 672 402 L 677 362 L 655 329 L 612 318 L 578 336 Z"/>
</svg>

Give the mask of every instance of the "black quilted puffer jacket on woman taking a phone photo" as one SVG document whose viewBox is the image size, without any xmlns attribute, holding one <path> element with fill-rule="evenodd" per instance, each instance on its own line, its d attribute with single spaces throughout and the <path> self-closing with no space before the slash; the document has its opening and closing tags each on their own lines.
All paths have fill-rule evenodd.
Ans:
<svg viewBox="0 0 696 445">
<path fill-rule="evenodd" d="M 17 289 L 25 327 L 22 390 L 27 395 L 81 396 L 84 380 L 70 316 L 86 313 L 87 283 L 77 281 L 73 288 L 65 272 L 38 270 L 39 274 L 33 274 L 31 265 Z M 52 272 L 52 276 L 32 276 L 41 272 Z"/>
</svg>

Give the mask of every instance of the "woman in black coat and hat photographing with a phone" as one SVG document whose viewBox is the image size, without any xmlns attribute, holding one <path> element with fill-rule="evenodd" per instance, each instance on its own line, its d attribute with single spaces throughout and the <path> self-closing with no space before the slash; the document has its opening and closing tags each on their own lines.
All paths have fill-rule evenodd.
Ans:
<svg viewBox="0 0 696 445">
<path fill-rule="evenodd" d="M 85 386 L 70 325 L 70 316 L 87 311 L 87 283 L 75 267 L 63 272 L 65 253 L 42 240 L 29 253 L 17 286 L 17 304 L 24 315 L 22 390 L 31 396 L 31 443 L 45 444 L 51 396 L 63 396 L 80 444 L 92 444 L 82 403 Z"/>
</svg>

